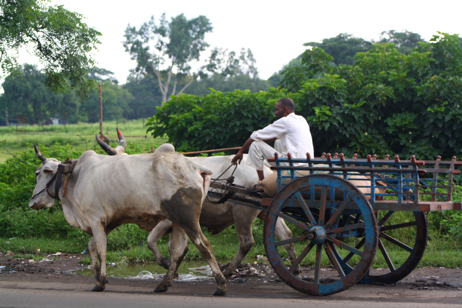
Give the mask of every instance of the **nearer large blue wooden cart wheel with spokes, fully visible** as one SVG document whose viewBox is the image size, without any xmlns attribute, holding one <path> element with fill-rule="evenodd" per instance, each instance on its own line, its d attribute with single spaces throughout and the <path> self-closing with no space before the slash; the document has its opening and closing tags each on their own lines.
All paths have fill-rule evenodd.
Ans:
<svg viewBox="0 0 462 308">
<path fill-rule="evenodd" d="M 309 200 L 311 187 L 319 200 Z M 339 199 L 333 198 L 334 191 L 342 200 L 330 201 Z M 342 226 L 350 217 L 357 221 Z M 292 239 L 279 241 L 275 237 L 278 218 L 292 229 Z M 263 235 L 267 258 L 277 275 L 295 290 L 310 295 L 334 294 L 359 282 L 374 260 L 378 243 L 377 220 L 365 195 L 343 178 L 326 174 L 304 176 L 283 187 L 268 207 Z M 365 239 L 360 248 L 355 248 L 359 242 L 356 236 Z M 288 243 L 302 250 L 292 265 L 286 265 L 281 257 L 284 252 L 280 248 Z M 344 272 L 335 257 L 337 248 L 342 248 L 343 254 L 355 254 L 350 259 L 355 262 L 350 272 Z M 328 258 L 322 258 L 323 254 Z M 313 269 L 297 275 L 298 265 Z"/>
</svg>

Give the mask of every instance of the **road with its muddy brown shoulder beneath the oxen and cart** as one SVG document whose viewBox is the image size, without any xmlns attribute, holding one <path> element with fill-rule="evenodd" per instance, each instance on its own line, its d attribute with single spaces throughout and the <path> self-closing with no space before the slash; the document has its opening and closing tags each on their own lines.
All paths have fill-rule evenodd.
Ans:
<svg viewBox="0 0 462 308">
<path fill-rule="evenodd" d="M 167 292 L 159 294 L 152 292 L 158 281 L 109 278 L 106 290 L 91 292 L 92 277 L 68 272 L 81 268 L 75 258 L 29 264 L 0 257 L 0 266 L 6 266 L 0 274 L 0 308 L 462 307 L 460 269 L 417 269 L 397 284 L 357 284 L 324 297 L 299 293 L 268 270 L 261 277 L 231 279 L 226 295 L 217 297 L 212 296 L 214 281 L 207 280 L 174 281 Z"/>
</svg>

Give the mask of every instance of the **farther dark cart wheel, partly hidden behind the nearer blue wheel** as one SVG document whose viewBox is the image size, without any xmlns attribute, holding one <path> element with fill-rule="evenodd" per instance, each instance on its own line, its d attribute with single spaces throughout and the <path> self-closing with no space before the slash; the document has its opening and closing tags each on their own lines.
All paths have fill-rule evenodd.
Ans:
<svg viewBox="0 0 462 308">
<path fill-rule="evenodd" d="M 405 278 L 419 264 L 427 245 L 428 222 L 425 212 L 414 211 L 414 219 L 410 219 L 410 221 L 406 223 L 392 222 L 395 211 L 383 212 L 382 215 L 378 212 L 376 213 L 379 218 L 378 226 L 380 232 L 378 242 L 380 252 L 377 252 L 376 258 L 382 255 L 387 263 L 389 271 L 383 269 L 380 271 L 367 272 L 364 278 L 359 281 L 363 284 L 393 284 Z M 398 238 L 394 233 L 397 233 L 398 236 L 401 235 L 406 241 Z M 403 236 L 404 234 L 406 236 Z M 359 242 L 360 245 L 363 243 L 364 240 Z M 410 246 L 408 246 L 408 244 Z M 334 254 L 344 272 L 347 273 L 353 270 L 353 267 L 348 264 L 353 254 L 341 257 L 337 250 L 334 250 Z M 395 254 L 400 254 L 401 256 L 394 258 Z M 407 259 L 404 262 L 401 261 L 398 263 L 399 259 L 402 258 L 402 254 L 407 255 Z"/>
</svg>

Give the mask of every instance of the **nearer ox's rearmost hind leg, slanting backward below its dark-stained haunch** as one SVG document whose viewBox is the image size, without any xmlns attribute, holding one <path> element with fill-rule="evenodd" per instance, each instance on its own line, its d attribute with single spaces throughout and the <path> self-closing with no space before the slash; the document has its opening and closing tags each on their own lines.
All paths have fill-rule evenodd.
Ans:
<svg viewBox="0 0 462 308">
<path fill-rule="evenodd" d="M 213 295 L 223 295 L 226 293 L 226 278 L 223 276 L 223 273 L 220 271 L 218 267 L 217 260 L 215 259 L 215 255 L 213 254 L 212 247 L 210 246 L 210 242 L 204 236 L 201 230 L 201 226 L 199 223 L 192 226 L 192 228 L 186 228 L 185 231 L 189 236 L 189 239 L 193 244 L 199 249 L 199 252 L 202 254 L 204 259 L 207 261 L 210 269 L 213 272 L 213 276 L 215 276 L 215 280 L 217 281 L 217 289 L 213 292 Z"/>
</svg>

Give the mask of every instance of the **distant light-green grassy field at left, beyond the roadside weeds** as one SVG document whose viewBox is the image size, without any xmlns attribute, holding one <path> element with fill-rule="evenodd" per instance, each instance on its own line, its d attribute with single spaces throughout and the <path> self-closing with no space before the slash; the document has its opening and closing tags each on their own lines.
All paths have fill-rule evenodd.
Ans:
<svg viewBox="0 0 462 308">
<path fill-rule="evenodd" d="M 161 145 L 167 142 L 165 138 L 153 139 L 151 134 L 146 134 L 143 127 L 143 120 L 121 120 L 104 121 L 103 133 L 110 140 L 117 140 L 116 125 L 127 139 L 127 143 L 152 146 Z M 106 132 L 109 132 L 107 134 Z M 61 145 L 70 144 L 86 151 L 91 150 L 97 143 L 95 134 L 99 134 L 99 123 L 79 123 L 64 125 L 44 125 L 43 130 L 40 125 L 0 127 L 0 163 L 4 163 L 14 152 L 24 151 L 27 144 L 53 145 L 56 142 Z M 147 136 L 147 138 L 145 138 Z"/>
</svg>

